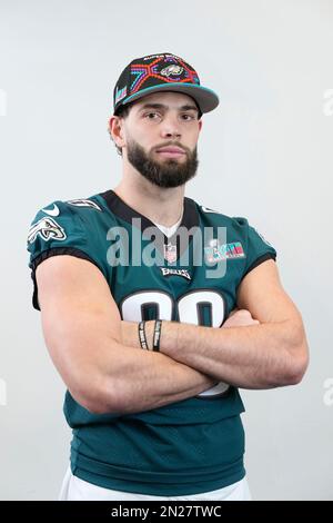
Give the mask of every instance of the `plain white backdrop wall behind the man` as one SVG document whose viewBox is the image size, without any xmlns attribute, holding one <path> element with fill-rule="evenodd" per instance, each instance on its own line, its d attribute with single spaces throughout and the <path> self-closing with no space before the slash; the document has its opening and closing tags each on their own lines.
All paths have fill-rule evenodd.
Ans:
<svg viewBox="0 0 333 523">
<path fill-rule="evenodd" d="M 114 187 L 114 82 L 173 52 L 215 90 L 186 195 L 245 216 L 278 250 L 311 348 L 296 387 L 242 391 L 256 500 L 333 500 L 331 0 L 0 0 L 0 499 L 56 499 L 64 387 L 32 309 L 27 230 L 39 207 Z"/>
</svg>

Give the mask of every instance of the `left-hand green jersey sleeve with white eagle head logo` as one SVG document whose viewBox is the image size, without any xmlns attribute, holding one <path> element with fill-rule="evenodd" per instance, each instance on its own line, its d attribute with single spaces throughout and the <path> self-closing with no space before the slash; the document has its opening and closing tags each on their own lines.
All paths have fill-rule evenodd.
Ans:
<svg viewBox="0 0 333 523">
<path fill-rule="evenodd" d="M 64 201 L 53 201 L 39 210 L 28 233 L 27 248 L 33 282 L 32 305 L 40 310 L 36 280 L 37 267 L 50 256 L 70 255 L 94 264 L 107 277 L 103 260 L 99 259 L 93 234 L 84 226 L 75 208 Z"/>
</svg>

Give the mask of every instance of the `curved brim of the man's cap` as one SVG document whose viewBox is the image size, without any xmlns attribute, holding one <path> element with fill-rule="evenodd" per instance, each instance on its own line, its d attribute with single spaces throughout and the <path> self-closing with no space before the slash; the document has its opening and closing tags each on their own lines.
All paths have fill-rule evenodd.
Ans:
<svg viewBox="0 0 333 523">
<path fill-rule="evenodd" d="M 119 109 L 121 106 L 130 103 L 131 101 L 139 100 L 140 98 L 143 98 L 152 92 L 158 91 L 184 92 L 196 101 L 201 112 L 212 111 L 218 107 L 220 102 L 218 95 L 211 89 L 208 89 L 206 87 L 194 86 L 193 83 L 184 82 L 170 82 L 141 89 L 139 92 L 134 92 L 134 95 L 131 95 L 128 98 L 123 99 L 117 109 Z"/>
</svg>

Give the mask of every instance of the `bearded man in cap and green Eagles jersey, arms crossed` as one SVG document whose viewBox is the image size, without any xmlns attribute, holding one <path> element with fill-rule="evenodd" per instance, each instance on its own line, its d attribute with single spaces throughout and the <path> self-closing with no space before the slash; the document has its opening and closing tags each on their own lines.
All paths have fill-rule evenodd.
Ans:
<svg viewBox="0 0 333 523">
<path fill-rule="evenodd" d="M 249 500 L 238 387 L 302 379 L 275 249 L 184 197 L 216 95 L 171 53 L 132 60 L 109 131 L 113 190 L 53 201 L 28 239 L 33 305 L 68 391 L 62 500 Z"/>
</svg>

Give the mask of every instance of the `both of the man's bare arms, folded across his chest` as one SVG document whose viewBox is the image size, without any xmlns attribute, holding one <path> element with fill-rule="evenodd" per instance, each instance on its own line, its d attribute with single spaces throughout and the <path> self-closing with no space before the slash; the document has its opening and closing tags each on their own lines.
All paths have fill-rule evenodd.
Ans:
<svg viewBox="0 0 333 523">
<path fill-rule="evenodd" d="M 249 388 L 297 383 L 307 364 L 304 328 L 272 264 L 253 269 L 239 288 L 238 305 L 262 325 L 211 328 L 163 322 L 161 353 L 151 353 L 139 348 L 138 324 L 121 322 L 94 265 L 51 257 L 37 268 L 51 358 L 73 397 L 95 413 L 155 408 L 193 397 L 216 381 Z M 256 283 L 265 285 L 268 297 Z M 153 323 L 148 327 L 152 332 Z"/>
</svg>

